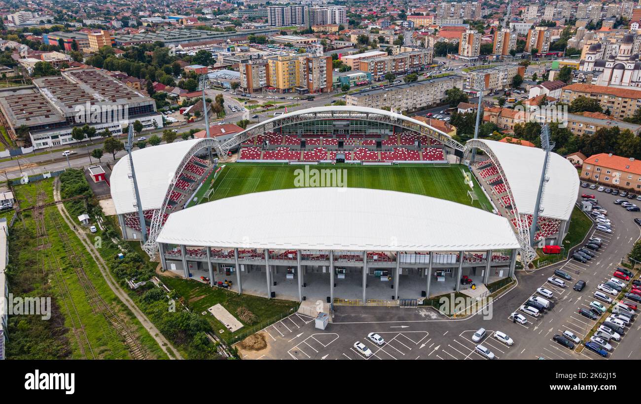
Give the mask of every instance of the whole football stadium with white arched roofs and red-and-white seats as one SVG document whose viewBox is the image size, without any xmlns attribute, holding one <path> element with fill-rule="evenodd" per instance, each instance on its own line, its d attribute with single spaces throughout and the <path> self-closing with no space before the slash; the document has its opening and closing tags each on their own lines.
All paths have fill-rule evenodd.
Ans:
<svg viewBox="0 0 641 404">
<path fill-rule="evenodd" d="M 164 270 L 268 298 L 372 304 L 470 293 L 469 283 L 481 296 L 513 277 L 517 260 L 533 260 L 544 154 L 462 145 L 379 109 L 317 107 L 223 143 L 131 152 L 144 223 L 129 159 L 110 181 L 122 235 L 144 242 Z M 578 192 L 560 155 L 551 153 L 548 173 L 535 247 L 562 243 Z"/>
</svg>

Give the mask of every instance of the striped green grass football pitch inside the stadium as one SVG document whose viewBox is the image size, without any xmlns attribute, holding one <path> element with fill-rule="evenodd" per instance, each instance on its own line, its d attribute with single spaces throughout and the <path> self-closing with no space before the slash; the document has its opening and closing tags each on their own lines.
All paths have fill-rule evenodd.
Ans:
<svg viewBox="0 0 641 404">
<path fill-rule="evenodd" d="M 305 166 L 290 166 L 287 164 L 254 164 L 254 163 L 224 163 L 224 166 L 213 178 L 213 174 L 196 194 L 196 203 L 206 203 L 217 199 L 228 198 L 262 192 L 294 188 L 297 186 L 296 170 L 304 170 Z M 483 191 L 479 189 L 476 179 L 469 174 L 467 167 L 462 165 L 450 166 L 354 166 L 351 164 L 319 164 L 309 166 L 313 169 L 345 169 L 347 187 L 397 190 L 447 199 L 449 201 L 471 205 L 484 210 L 492 210 Z M 470 186 L 465 183 L 463 171 L 474 181 L 474 190 L 478 199 L 472 200 L 468 194 Z M 300 171 L 298 172 L 300 173 Z M 213 190 L 213 192 L 209 192 Z M 206 196 L 210 194 L 210 198 Z"/>
</svg>

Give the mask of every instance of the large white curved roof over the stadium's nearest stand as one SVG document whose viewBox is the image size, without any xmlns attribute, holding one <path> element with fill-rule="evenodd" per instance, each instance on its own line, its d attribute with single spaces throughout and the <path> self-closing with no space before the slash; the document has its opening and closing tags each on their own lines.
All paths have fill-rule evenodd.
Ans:
<svg viewBox="0 0 641 404">
<path fill-rule="evenodd" d="M 444 199 L 362 188 L 294 188 L 169 215 L 158 242 L 353 251 L 516 249 L 505 217 Z"/>
</svg>

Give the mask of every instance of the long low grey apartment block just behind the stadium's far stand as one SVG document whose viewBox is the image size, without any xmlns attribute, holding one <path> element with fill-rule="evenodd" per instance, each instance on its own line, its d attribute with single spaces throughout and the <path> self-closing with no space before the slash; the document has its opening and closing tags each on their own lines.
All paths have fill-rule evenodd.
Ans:
<svg viewBox="0 0 641 404">
<path fill-rule="evenodd" d="M 429 105 L 440 104 L 445 100 L 445 91 L 454 87 L 463 87 L 463 77 L 449 75 L 429 81 L 410 82 L 388 88 L 348 94 L 345 102 L 347 105 L 358 107 L 415 111 Z"/>
</svg>

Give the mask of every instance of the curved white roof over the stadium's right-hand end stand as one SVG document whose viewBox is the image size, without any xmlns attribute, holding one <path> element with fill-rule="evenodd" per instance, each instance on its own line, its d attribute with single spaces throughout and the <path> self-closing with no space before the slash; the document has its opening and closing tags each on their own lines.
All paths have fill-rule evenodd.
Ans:
<svg viewBox="0 0 641 404">
<path fill-rule="evenodd" d="M 499 160 L 519 213 L 533 214 L 545 152 L 540 148 L 520 144 L 485 139 L 479 141 L 487 144 Z M 544 185 L 541 201 L 543 212 L 540 215 L 563 221 L 570 219 L 579 191 L 576 168 L 562 156 L 550 153 L 547 177 L 549 181 Z"/>
</svg>

